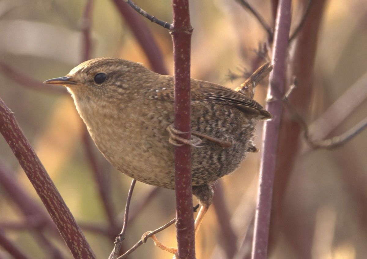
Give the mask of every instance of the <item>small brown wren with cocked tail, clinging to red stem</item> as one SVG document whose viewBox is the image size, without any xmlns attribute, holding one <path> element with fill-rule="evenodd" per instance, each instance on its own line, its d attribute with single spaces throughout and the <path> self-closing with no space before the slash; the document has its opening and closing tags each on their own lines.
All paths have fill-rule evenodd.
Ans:
<svg viewBox="0 0 367 259">
<path fill-rule="evenodd" d="M 255 85 L 271 70 L 266 63 L 237 91 L 191 79 L 190 141 L 172 127 L 172 76 L 125 59 L 96 58 L 45 83 L 68 88 L 98 149 L 119 171 L 138 181 L 175 189 L 174 145 L 192 145 L 193 194 L 203 216 L 214 194 L 210 184 L 235 171 L 247 152 L 258 151 L 255 124 L 272 115 L 252 97 Z M 195 221 L 196 231 L 201 220 Z"/>
</svg>

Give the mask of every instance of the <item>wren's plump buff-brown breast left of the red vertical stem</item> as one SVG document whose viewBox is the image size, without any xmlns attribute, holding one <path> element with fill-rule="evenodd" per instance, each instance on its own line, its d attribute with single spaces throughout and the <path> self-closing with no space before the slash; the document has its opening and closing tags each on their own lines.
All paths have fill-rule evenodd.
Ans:
<svg viewBox="0 0 367 259">
<path fill-rule="evenodd" d="M 130 106 L 102 109 L 84 103 L 78 110 L 96 146 L 116 169 L 150 185 L 174 188 L 174 148 L 166 131 L 170 113 L 153 116 L 163 109 L 158 105 L 138 114 Z M 118 112 L 108 112 L 112 109 Z"/>
</svg>

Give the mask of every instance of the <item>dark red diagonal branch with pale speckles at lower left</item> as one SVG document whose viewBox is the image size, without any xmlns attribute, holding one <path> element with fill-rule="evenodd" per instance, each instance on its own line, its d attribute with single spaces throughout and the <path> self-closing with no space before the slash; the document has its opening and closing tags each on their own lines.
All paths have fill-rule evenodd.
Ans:
<svg viewBox="0 0 367 259">
<path fill-rule="evenodd" d="M 86 238 L 11 110 L 0 99 L 0 132 L 28 176 L 74 258 L 95 258 Z"/>
</svg>

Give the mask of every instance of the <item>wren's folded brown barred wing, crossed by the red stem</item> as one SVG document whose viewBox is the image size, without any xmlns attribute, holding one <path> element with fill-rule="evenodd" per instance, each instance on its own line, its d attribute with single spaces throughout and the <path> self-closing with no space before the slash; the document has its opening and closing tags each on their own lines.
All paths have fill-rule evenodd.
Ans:
<svg viewBox="0 0 367 259">
<path fill-rule="evenodd" d="M 148 98 L 173 102 L 172 85 L 172 77 L 164 76 L 163 80 L 160 79 L 159 86 L 154 86 L 147 92 Z M 255 100 L 222 85 L 191 79 L 191 89 L 193 101 L 233 106 L 246 114 L 252 114 L 258 120 L 270 120 L 273 117 Z"/>
</svg>

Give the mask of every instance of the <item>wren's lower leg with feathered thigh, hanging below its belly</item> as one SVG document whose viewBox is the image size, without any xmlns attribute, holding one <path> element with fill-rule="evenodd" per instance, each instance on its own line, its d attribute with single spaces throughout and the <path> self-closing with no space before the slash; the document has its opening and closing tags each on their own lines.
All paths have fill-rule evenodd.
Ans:
<svg viewBox="0 0 367 259">
<path fill-rule="evenodd" d="M 199 213 L 195 219 L 195 236 L 199 231 L 201 222 L 203 222 L 204 215 L 208 211 L 210 204 L 213 201 L 214 191 L 209 185 L 200 185 L 192 187 L 192 194 L 194 194 L 201 205 Z"/>
</svg>

